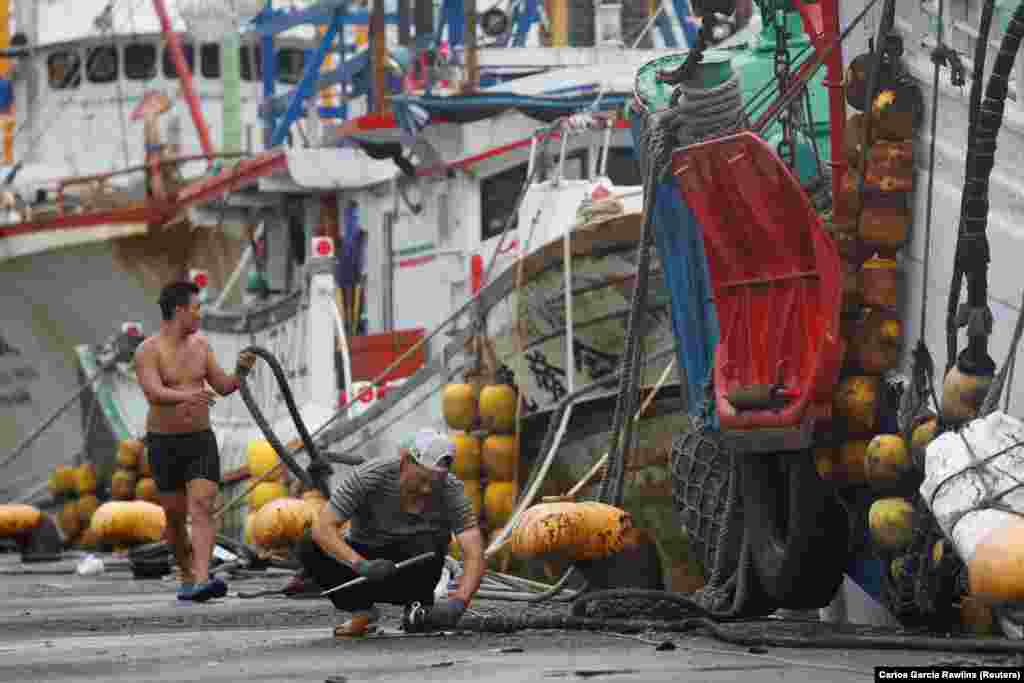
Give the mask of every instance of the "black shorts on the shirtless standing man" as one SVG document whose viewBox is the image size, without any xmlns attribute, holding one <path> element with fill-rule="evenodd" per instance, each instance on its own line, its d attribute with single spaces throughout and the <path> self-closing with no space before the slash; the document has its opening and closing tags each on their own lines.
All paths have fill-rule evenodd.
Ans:
<svg viewBox="0 0 1024 683">
<path fill-rule="evenodd" d="M 158 489 L 168 494 L 182 490 L 193 479 L 220 483 L 220 453 L 212 430 L 183 434 L 150 432 L 145 443 Z"/>
</svg>

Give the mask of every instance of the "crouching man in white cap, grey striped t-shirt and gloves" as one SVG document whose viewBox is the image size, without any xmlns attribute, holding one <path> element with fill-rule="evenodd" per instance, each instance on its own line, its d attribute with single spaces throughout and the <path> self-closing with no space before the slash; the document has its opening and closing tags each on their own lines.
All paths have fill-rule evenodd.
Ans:
<svg viewBox="0 0 1024 683">
<path fill-rule="evenodd" d="M 365 577 L 369 581 L 331 593 L 351 618 L 335 636 L 361 636 L 380 620 L 378 603 L 413 603 L 431 608 L 431 621 L 455 624 L 483 578 L 483 541 L 462 482 L 449 472 L 455 444 L 433 429 L 422 429 L 395 456 L 370 460 L 348 473 L 331 496 L 299 559 L 324 590 Z M 347 531 L 343 530 L 349 522 Z M 465 570 L 449 599 L 434 604 L 452 535 L 463 549 Z M 433 559 L 395 569 L 427 552 Z"/>
</svg>

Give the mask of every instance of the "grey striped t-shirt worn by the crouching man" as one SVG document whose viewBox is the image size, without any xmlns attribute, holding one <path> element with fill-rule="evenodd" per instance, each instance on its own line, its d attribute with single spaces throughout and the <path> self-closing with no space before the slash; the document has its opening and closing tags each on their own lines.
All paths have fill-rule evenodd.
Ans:
<svg viewBox="0 0 1024 683">
<path fill-rule="evenodd" d="M 335 514 L 351 521 L 348 541 L 379 547 L 412 537 L 458 536 L 476 526 L 473 505 L 453 474 L 434 486 L 433 500 L 422 515 L 402 511 L 400 462 L 398 456 L 374 458 L 349 472 L 331 496 Z"/>
</svg>

